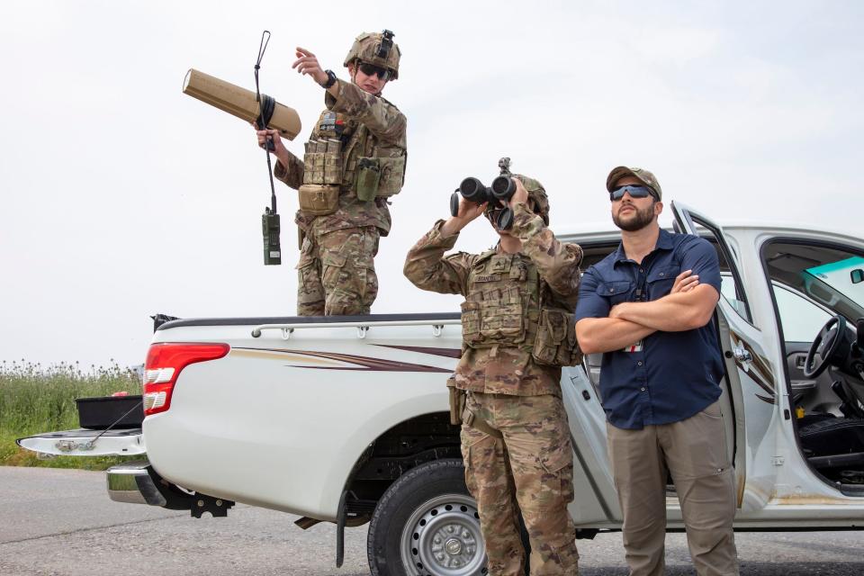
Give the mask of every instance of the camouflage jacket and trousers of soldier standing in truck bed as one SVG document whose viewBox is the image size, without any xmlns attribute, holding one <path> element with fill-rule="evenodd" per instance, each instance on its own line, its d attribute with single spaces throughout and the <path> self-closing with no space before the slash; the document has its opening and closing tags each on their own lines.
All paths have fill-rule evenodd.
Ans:
<svg viewBox="0 0 864 576">
<path fill-rule="evenodd" d="M 389 183 L 382 185 L 389 185 L 391 193 L 399 191 L 404 178 L 405 115 L 381 96 L 368 94 L 355 84 L 338 80 L 338 91 L 336 98 L 325 93 L 327 109 L 312 129 L 304 159 L 292 156 L 288 166 L 277 162 L 274 170 L 276 178 L 300 189 L 304 179 L 309 180 L 310 146 L 328 139 L 340 141 L 338 168 L 342 175 L 336 210 L 327 215 L 299 210 L 294 219 L 305 237 L 297 264 L 300 316 L 369 313 L 378 293 L 374 266 L 378 238 L 390 233 L 391 218 L 386 195 L 370 201 L 357 197 L 358 160 L 401 158 L 397 169 L 381 176 L 382 183 L 389 178 Z"/>
</svg>

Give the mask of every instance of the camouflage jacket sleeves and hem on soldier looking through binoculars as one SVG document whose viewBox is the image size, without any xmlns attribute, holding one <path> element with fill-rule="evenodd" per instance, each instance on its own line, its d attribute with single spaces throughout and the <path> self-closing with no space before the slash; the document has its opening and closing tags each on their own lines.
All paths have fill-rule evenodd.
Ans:
<svg viewBox="0 0 864 576">
<path fill-rule="evenodd" d="M 518 203 L 514 212 L 512 233 L 522 240 L 522 252 L 512 257 L 529 259 L 559 305 L 572 312 L 579 292 L 581 247 L 558 241 L 543 220 L 528 211 L 526 204 Z M 457 252 L 444 256 L 454 247 L 459 235 L 442 236 L 443 225 L 444 220 L 438 220 L 410 249 L 404 273 L 423 290 L 462 294 L 468 301 L 473 297 L 468 293 L 469 276 L 484 255 Z M 502 254 L 500 249 L 499 254 Z M 518 396 L 560 396 L 560 380 L 560 367 L 538 365 L 530 351 L 519 347 L 476 349 L 464 346 L 455 374 L 457 388 Z"/>
</svg>

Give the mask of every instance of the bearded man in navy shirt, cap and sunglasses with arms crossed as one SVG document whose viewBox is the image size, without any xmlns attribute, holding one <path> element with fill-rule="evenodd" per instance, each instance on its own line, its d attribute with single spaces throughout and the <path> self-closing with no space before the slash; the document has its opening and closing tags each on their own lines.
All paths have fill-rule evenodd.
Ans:
<svg viewBox="0 0 864 576">
<path fill-rule="evenodd" d="M 667 472 L 699 576 L 738 574 L 734 473 L 717 401 L 724 376 L 714 323 L 720 268 L 707 240 L 660 228 L 654 175 L 607 179 L 618 249 L 582 276 L 576 336 L 603 353 L 600 393 L 632 576 L 663 573 Z"/>
</svg>

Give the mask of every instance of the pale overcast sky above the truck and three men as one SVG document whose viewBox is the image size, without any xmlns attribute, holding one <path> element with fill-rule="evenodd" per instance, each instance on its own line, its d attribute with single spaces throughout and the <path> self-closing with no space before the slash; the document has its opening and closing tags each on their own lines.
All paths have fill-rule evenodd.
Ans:
<svg viewBox="0 0 864 576">
<path fill-rule="evenodd" d="M 283 266 L 262 263 L 266 161 L 242 121 L 181 93 L 195 67 L 301 114 L 360 31 L 396 33 L 384 95 L 409 119 L 405 187 L 375 260 L 373 312 L 456 311 L 401 275 L 467 175 L 539 179 L 554 229 L 609 227 L 608 171 L 721 221 L 860 234 L 859 2 L 4 2 L 0 9 L 0 359 L 143 361 L 148 315 L 295 311 L 296 193 L 276 182 Z M 669 211 L 663 223 L 668 223 Z M 457 247 L 494 241 L 483 220 Z"/>
</svg>

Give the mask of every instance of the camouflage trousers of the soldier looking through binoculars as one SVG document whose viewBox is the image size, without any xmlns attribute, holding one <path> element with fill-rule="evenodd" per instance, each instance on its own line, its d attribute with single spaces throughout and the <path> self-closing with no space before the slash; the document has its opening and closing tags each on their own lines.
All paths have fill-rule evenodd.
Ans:
<svg viewBox="0 0 864 576">
<path fill-rule="evenodd" d="M 576 529 L 567 511 L 573 453 L 561 398 L 469 392 L 467 407 L 503 435 L 462 427 L 465 482 L 477 500 L 490 575 L 525 573 L 520 510 L 531 574 L 577 574 Z"/>
</svg>

